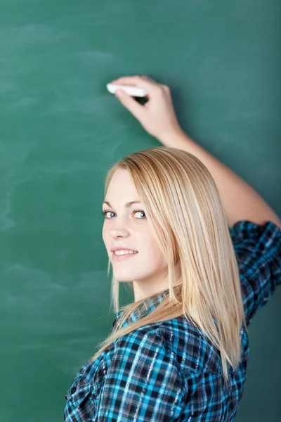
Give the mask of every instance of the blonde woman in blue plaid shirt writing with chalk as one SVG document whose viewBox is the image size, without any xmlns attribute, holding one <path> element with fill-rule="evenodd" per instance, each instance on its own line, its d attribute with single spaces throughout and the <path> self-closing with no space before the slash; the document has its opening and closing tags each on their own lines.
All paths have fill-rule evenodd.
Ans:
<svg viewBox="0 0 281 422">
<path fill-rule="evenodd" d="M 127 155 L 107 174 L 103 241 L 116 316 L 67 391 L 64 421 L 233 421 L 247 326 L 281 283 L 280 219 L 183 133 L 168 87 L 139 76 L 113 82 L 147 89 L 144 106 L 124 91 L 118 98 L 164 146 Z M 135 302 L 119 311 L 122 282 Z"/>
</svg>

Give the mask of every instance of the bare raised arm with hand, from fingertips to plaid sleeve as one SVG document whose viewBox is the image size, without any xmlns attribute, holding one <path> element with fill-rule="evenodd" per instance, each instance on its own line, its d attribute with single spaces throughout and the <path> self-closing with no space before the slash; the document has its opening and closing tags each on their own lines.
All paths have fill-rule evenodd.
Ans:
<svg viewBox="0 0 281 422">
<path fill-rule="evenodd" d="M 203 162 L 218 186 L 228 226 L 232 227 L 235 222 L 243 219 L 256 224 L 271 221 L 281 229 L 280 218 L 254 188 L 183 132 L 174 113 L 169 87 L 140 76 L 121 77 L 115 79 L 114 83 L 134 84 L 147 89 L 149 94 L 145 106 L 141 106 L 124 91 L 118 97 L 119 101 L 164 146 L 188 151 Z"/>
</svg>

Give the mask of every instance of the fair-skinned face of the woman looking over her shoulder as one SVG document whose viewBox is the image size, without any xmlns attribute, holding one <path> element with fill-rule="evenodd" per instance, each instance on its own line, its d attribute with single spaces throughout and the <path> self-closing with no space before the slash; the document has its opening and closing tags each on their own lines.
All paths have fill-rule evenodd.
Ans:
<svg viewBox="0 0 281 422">
<path fill-rule="evenodd" d="M 133 281 L 136 300 L 167 288 L 164 278 L 168 267 L 152 236 L 145 209 L 142 203 L 126 205 L 138 201 L 129 172 L 122 169 L 115 172 L 107 188 L 105 201 L 110 206 L 103 203 L 103 212 L 106 211 L 103 241 L 115 279 Z M 115 260 L 111 251 L 115 246 L 124 246 L 138 253 Z"/>
</svg>

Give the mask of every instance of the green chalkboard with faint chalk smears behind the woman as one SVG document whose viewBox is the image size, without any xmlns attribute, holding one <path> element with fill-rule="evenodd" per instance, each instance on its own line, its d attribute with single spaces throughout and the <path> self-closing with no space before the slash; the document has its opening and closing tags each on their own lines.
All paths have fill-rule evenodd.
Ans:
<svg viewBox="0 0 281 422">
<path fill-rule="evenodd" d="M 107 82 L 168 84 L 183 129 L 281 215 L 280 12 L 277 0 L 1 1 L 1 421 L 62 421 L 112 328 L 105 174 L 160 143 Z M 280 298 L 250 326 L 238 422 L 280 420 Z"/>
</svg>

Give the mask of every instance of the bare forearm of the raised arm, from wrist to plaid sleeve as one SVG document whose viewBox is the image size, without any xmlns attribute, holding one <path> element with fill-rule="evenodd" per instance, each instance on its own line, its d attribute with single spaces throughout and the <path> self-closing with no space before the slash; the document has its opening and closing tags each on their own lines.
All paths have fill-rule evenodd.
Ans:
<svg viewBox="0 0 281 422">
<path fill-rule="evenodd" d="M 172 141 L 170 139 L 172 138 Z M 246 219 L 256 224 L 272 221 L 281 229 L 281 220 L 266 201 L 233 170 L 208 153 L 184 132 L 178 132 L 168 139 L 159 139 L 164 145 L 188 151 L 207 167 L 221 195 L 228 217 L 228 226 Z M 172 142 L 172 143 L 171 143 Z"/>
</svg>

